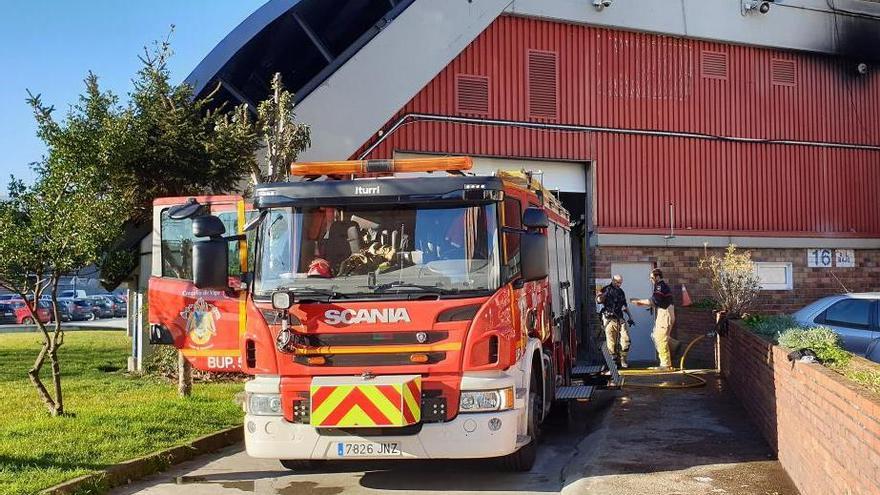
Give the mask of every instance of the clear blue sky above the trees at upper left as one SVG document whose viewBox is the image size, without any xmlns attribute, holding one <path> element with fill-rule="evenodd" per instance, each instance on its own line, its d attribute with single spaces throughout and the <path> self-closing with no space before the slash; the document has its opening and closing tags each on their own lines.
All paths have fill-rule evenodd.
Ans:
<svg viewBox="0 0 880 495">
<path fill-rule="evenodd" d="M 26 90 L 66 113 L 88 71 L 123 101 L 138 55 L 171 25 L 172 79 L 190 71 L 265 0 L 0 0 L 0 194 L 9 176 L 33 180 L 45 154 Z"/>
</svg>

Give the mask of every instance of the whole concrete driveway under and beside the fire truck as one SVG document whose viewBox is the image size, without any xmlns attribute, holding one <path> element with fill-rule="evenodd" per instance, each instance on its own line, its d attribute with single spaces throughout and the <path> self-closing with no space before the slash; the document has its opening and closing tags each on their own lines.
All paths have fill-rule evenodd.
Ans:
<svg viewBox="0 0 880 495">
<path fill-rule="evenodd" d="M 546 425 L 529 473 L 488 461 L 347 462 L 294 473 L 230 447 L 112 492 L 164 495 L 337 493 L 796 494 L 723 386 L 625 389 Z"/>
</svg>

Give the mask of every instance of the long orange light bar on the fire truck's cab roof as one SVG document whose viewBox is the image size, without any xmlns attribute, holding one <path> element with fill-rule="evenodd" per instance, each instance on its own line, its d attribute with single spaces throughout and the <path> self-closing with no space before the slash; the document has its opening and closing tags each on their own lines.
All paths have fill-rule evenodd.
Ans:
<svg viewBox="0 0 880 495">
<path fill-rule="evenodd" d="M 398 160 L 348 160 L 341 162 L 294 163 L 290 174 L 303 175 L 360 175 L 395 172 L 454 172 L 470 170 L 473 160 L 468 156 L 442 158 L 404 158 Z"/>
</svg>

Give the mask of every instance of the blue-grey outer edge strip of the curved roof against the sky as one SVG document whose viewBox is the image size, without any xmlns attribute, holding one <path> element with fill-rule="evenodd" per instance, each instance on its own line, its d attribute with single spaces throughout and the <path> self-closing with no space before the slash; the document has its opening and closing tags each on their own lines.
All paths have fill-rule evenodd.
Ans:
<svg viewBox="0 0 880 495">
<path fill-rule="evenodd" d="M 184 83 L 192 86 L 195 94 L 201 93 L 211 79 L 220 72 L 220 69 L 248 41 L 299 2 L 300 0 L 269 0 L 263 4 L 217 43 L 189 76 L 184 79 Z"/>
</svg>

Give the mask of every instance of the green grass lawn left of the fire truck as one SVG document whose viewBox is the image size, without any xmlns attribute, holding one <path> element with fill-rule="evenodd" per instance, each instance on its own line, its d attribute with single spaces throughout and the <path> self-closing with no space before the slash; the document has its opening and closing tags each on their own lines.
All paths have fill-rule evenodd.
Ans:
<svg viewBox="0 0 880 495">
<path fill-rule="evenodd" d="M 59 353 L 70 416 L 52 418 L 26 375 L 40 336 L 0 335 L 2 495 L 36 493 L 242 421 L 233 396 L 243 384 L 197 383 L 183 399 L 176 384 L 125 373 L 125 332 L 68 332 L 65 340 Z M 43 375 L 51 389 L 48 361 Z"/>
</svg>

